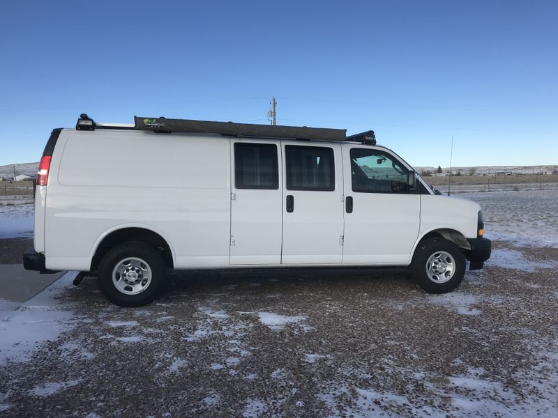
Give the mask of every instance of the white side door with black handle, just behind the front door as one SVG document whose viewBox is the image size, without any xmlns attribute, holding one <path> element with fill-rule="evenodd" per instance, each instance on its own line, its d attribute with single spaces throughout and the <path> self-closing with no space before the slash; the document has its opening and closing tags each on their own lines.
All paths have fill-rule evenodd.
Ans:
<svg viewBox="0 0 558 418">
<path fill-rule="evenodd" d="M 341 263 L 340 144 L 281 141 L 282 264 Z"/>
</svg>

